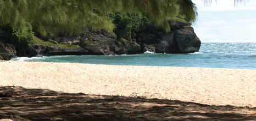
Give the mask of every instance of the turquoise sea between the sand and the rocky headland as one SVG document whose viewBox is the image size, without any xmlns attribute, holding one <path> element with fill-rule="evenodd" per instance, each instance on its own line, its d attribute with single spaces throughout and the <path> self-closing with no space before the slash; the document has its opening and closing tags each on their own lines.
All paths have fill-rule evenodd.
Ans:
<svg viewBox="0 0 256 121">
<path fill-rule="evenodd" d="M 12 60 L 256 70 L 256 43 L 203 43 L 199 52 L 189 54 L 145 52 L 140 55 L 20 57 Z"/>
</svg>

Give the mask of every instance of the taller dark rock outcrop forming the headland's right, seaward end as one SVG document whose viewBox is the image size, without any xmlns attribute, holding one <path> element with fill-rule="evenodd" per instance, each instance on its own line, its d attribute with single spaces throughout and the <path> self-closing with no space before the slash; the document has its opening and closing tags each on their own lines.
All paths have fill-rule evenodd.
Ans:
<svg viewBox="0 0 256 121">
<path fill-rule="evenodd" d="M 150 26 L 137 33 L 138 44 L 143 51 L 157 53 L 193 53 L 198 52 L 201 41 L 193 28 L 185 22 L 170 22 L 171 32 L 166 33 Z"/>
</svg>

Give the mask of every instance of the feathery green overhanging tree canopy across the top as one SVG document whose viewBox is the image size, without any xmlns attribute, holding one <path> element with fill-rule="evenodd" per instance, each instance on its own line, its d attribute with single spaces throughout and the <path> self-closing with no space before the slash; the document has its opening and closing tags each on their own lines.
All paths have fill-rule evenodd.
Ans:
<svg viewBox="0 0 256 121">
<path fill-rule="evenodd" d="M 31 25 L 41 35 L 78 33 L 87 27 L 113 31 L 109 11 L 146 14 L 166 31 L 167 21 L 178 14 L 191 22 L 197 14 L 191 0 L 0 0 L 0 26 L 9 24 L 23 33 Z"/>
</svg>

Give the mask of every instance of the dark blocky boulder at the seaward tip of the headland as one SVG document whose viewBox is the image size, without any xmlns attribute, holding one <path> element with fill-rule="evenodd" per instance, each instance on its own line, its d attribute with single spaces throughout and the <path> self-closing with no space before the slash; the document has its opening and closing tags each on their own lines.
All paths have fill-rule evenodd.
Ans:
<svg viewBox="0 0 256 121">
<path fill-rule="evenodd" d="M 174 35 L 174 41 L 175 53 L 198 52 L 201 46 L 201 41 L 192 27 L 177 30 Z"/>
</svg>

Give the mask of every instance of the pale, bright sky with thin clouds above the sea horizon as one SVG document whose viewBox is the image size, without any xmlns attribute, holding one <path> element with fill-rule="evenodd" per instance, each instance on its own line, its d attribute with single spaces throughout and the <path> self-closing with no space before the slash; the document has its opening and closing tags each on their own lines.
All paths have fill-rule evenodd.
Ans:
<svg viewBox="0 0 256 121">
<path fill-rule="evenodd" d="M 198 9 L 194 32 L 203 43 L 256 43 L 256 1 L 192 0 Z"/>
</svg>

